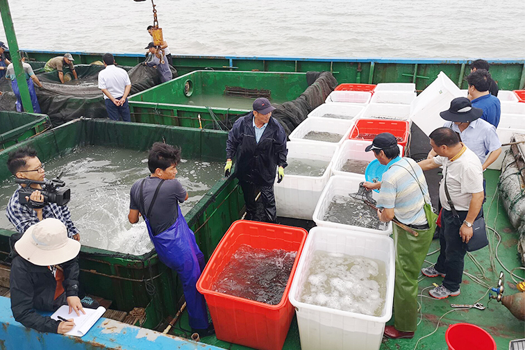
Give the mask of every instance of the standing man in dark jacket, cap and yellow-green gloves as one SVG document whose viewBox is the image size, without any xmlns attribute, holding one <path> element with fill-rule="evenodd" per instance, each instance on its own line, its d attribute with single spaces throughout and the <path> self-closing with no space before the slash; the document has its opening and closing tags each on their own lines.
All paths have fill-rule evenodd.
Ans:
<svg viewBox="0 0 525 350">
<path fill-rule="evenodd" d="M 256 99 L 253 111 L 233 124 L 226 141 L 224 176 L 230 175 L 232 158 L 236 156 L 235 176 L 244 194 L 248 220 L 257 219 L 255 199 L 260 191 L 267 221 L 276 221 L 274 181 L 276 170 L 277 182 L 283 180 L 288 149 L 283 126 L 272 118 L 274 109 L 268 99 Z"/>
</svg>

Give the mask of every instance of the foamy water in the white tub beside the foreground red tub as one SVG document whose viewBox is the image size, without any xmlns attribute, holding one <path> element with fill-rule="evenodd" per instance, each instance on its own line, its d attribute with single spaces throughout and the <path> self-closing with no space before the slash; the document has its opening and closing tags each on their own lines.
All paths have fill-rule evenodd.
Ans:
<svg viewBox="0 0 525 350">
<path fill-rule="evenodd" d="M 364 256 L 315 251 L 299 301 L 380 317 L 385 308 L 386 265 Z"/>
</svg>

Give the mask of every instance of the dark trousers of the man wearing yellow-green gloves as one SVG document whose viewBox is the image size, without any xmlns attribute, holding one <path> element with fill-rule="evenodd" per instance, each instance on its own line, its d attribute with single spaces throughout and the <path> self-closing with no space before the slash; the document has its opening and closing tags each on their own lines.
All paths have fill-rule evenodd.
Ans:
<svg viewBox="0 0 525 350">
<path fill-rule="evenodd" d="M 267 222 L 276 222 L 277 208 L 275 206 L 274 196 L 274 185 L 269 186 L 258 186 L 253 183 L 239 181 L 242 193 L 244 195 L 244 203 L 246 203 L 246 216 L 244 219 L 261 221 L 262 218 L 258 218 L 257 207 L 256 207 L 256 196 L 260 191 L 260 199 L 263 201 L 265 208 L 265 220 Z"/>
</svg>

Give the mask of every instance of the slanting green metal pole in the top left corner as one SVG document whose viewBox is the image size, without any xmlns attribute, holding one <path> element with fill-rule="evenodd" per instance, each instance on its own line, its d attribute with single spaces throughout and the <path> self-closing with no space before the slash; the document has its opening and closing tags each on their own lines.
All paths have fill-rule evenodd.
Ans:
<svg viewBox="0 0 525 350">
<path fill-rule="evenodd" d="M 15 75 L 17 79 L 20 97 L 22 99 L 22 106 L 24 111 L 33 113 L 33 103 L 31 103 L 31 95 L 26 81 L 26 74 L 22 67 L 22 57 L 20 57 L 17 35 L 15 34 L 15 26 L 12 25 L 11 11 L 9 9 L 8 0 L 0 0 L 0 14 L 2 17 L 3 30 L 6 31 L 6 38 L 10 47 L 12 65 L 15 68 Z"/>
</svg>

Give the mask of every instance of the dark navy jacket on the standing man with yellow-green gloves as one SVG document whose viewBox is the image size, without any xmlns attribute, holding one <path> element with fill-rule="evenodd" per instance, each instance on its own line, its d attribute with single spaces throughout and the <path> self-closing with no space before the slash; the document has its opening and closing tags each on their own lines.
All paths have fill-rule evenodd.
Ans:
<svg viewBox="0 0 525 350">
<path fill-rule="evenodd" d="M 226 141 L 226 158 L 235 161 L 235 176 L 239 181 L 256 185 L 273 185 L 278 166 L 286 167 L 286 133 L 276 119 L 270 117 L 268 125 L 256 142 L 253 112 L 240 117 Z"/>
</svg>

